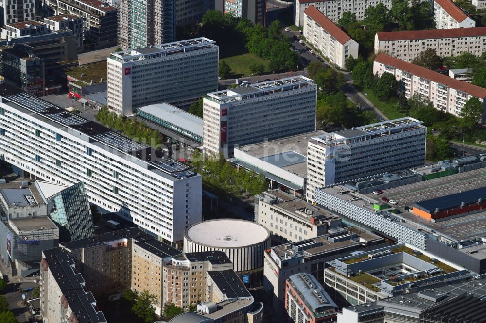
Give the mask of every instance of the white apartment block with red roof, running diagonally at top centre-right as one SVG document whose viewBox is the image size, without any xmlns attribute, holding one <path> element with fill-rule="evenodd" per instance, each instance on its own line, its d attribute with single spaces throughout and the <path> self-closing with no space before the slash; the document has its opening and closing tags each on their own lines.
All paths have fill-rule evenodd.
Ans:
<svg viewBox="0 0 486 323">
<path fill-rule="evenodd" d="M 340 68 L 349 56 L 358 58 L 358 43 L 314 6 L 304 10 L 304 37 Z"/>
</svg>

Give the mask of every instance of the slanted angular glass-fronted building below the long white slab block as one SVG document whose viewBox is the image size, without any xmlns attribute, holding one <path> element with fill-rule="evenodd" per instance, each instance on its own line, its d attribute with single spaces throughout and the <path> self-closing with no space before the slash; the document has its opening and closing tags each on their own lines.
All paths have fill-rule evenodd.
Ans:
<svg viewBox="0 0 486 323">
<path fill-rule="evenodd" d="M 93 216 L 83 182 L 78 182 L 47 198 L 51 220 L 59 226 L 59 241 L 94 236 Z"/>
</svg>

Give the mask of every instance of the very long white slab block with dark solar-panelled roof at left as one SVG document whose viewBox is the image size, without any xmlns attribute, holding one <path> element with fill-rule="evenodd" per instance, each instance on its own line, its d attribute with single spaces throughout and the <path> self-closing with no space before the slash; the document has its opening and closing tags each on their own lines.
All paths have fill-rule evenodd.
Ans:
<svg viewBox="0 0 486 323">
<path fill-rule="evenodd" d="M 166 242 L 201 221 L 202 179 L 147 145 L 0 83 L 0 154 L 36 178 L 85 183 L 90 202 Z"/>
</svg>

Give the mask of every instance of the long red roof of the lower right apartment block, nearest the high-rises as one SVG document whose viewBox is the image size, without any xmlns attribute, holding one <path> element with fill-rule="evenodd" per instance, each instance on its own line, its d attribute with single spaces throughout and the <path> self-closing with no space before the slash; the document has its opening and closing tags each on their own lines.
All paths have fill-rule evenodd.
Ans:
<svg viewBox="0 0 486 323">
<path fill-rule="evenodd" d="M 421 67 L 412 63 L 408 63 L 402 60 L 399 60 L 398 58 L 391 57 L 386 54 L 378 54 L 378 56 L 375 58 L 375 62 L 382 63 L 391 67 L 398 68 L 399 70 L 405 71 L 407 73 L 416 75 L 418 77 L 434 81 L 440 84 L 443 84 L 445 86 L 448 86 L 450 88 L 453 88 L 455 90 L 468 93 L 472 96 L 479 97 L 481 99 L 486 97 L 486 89 L 473 85 L 471 83 L 465 82 L 465 81 L 459 81 L 456 79 L 453 79 L 447 75 L 443 75 L 434 71 L 431 71 L 425 67 Z"/>
</svg>

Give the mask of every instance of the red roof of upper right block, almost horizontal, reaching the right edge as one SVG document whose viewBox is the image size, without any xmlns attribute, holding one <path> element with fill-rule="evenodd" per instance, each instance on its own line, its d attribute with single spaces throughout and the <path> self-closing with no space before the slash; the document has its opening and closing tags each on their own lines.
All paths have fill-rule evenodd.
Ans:
<svg viewBox="0 0 486 323">
<path fill-rule="evenodd" d="M 486 27 L 377 32 L 378 40 L 410 40 L 486 36 Z"/>
</svg>

